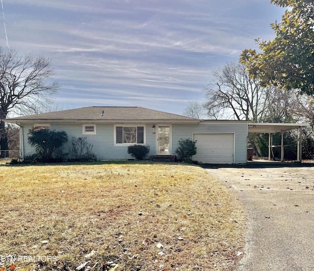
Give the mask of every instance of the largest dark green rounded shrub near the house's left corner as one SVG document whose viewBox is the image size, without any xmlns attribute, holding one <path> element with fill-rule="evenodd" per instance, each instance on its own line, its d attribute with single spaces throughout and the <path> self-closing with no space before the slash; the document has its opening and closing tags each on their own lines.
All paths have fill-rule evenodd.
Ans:
<svg viewBox="0 0 314 271">
<path fill-rule="evenodd" d="M 28 135 L 28 143 L 35 147 L 36 156 L 43 162 L 56 160 L 55 153 L 68 141 L 65 131 L 56 132 L 48 128 L 30 129 Z"/>
</svg>

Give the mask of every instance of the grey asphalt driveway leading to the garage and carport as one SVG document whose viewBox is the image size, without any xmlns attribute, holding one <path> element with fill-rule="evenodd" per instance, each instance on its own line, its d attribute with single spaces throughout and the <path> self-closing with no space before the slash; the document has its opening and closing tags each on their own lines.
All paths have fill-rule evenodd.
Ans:
<svg viewBox="0 0 314 271">
<path fill-rule="evenodd" d="M 205 166 L 249 211 L 237 271 L 314 271 L 314 167 Z"/>
</svg>

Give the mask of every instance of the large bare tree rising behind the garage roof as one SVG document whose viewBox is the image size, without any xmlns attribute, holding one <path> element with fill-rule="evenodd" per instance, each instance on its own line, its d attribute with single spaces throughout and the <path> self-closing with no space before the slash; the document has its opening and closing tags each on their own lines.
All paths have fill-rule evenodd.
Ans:
<svg viewBox="0 0 314 271">
<path fill-rule="evenodd" d="M 263 88 L 250 77 L 245 65 L 228 63 L 213 73 L 214 84 L 205 89 L 205 106 L 213 118 L 260 121 L 273 87 Z"/>
</svg>

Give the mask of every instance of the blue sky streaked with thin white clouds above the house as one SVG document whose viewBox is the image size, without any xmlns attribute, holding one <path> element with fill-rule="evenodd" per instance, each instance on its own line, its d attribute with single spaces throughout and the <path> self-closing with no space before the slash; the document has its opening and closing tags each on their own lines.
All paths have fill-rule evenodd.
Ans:
<svg viewBox="0 0 314 271">
<path fill-rule="evenodd" d="M 212 71 L 237 62 L 284 9 L 268 0 L 2 0 L 7 41 L 52 58 L 62 108 L 141 106 L 182 114 Z M 0 16 L 0 46 L 6 47 Z"/>
</svg>

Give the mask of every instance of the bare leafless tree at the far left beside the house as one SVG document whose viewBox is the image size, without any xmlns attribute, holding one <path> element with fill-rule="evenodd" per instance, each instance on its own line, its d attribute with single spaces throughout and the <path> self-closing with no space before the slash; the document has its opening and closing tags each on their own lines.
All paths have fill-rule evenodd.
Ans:
<svg viewBox="0 0 314 271">
<path fill-rule="evenodd" d="M 51 59 L 34 54 L 21 57 L 16 50 L 0 47 L 0 149 L 8 149 L 3 119 L 9 113 L 50 104 L 58 83 L 51 80 L 54 69 Z M 1 157 L 3 157 L 1 153 Z"/>
</svg>

